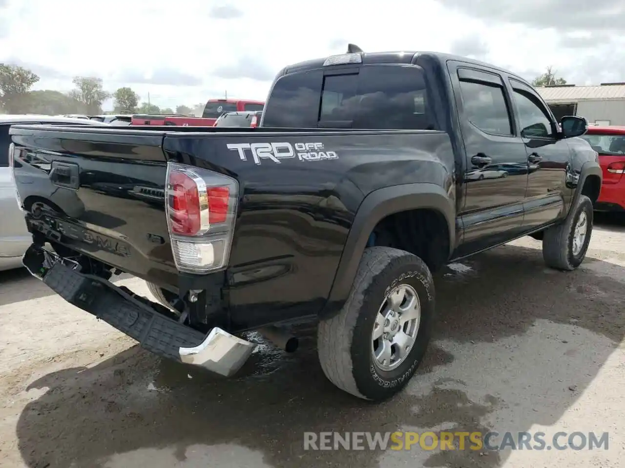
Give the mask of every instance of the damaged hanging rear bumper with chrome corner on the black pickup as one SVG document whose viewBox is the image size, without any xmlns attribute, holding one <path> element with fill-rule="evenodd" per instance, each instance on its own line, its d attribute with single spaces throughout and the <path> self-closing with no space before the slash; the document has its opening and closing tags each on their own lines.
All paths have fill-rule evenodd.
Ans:
<svg viewBox="0 0 625 468">
<path fill-rule="evenodd" d="M 201 366 L 222 376 L 236 373 L 256 344 L 221 328 L 208 334 L 159 313 L 113 283 L 81 273 L 77 265 L 32 244 L 23 257 L 31 275 L 64 300 L 93 314 L 154 354 Z"/>
</svg>

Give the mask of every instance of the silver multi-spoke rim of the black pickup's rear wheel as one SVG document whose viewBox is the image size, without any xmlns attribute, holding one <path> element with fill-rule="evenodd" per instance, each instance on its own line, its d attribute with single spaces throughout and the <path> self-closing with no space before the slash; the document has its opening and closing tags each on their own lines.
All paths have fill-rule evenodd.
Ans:
<svg viewBox="0 0 625 468">
<path fill-rule="evenodd" d="M 421 303 L 412 286 L 396 286 L 386 295 L 371 333 L 371 354 L 378 368 L 391 371 L 406 360 L 420 321 Z"/>
</svg>

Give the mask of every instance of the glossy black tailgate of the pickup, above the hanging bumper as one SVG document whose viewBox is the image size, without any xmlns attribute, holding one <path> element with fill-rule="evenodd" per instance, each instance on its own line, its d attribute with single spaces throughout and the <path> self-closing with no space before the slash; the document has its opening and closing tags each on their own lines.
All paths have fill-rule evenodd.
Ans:
<svg viewBox="0 0 625 468">
<path fill-rule="evenodd" d="M 31 232 L 157 284 L 176 284 L 164 207 L 164 132 L 11 128 Z"/>
</svg>

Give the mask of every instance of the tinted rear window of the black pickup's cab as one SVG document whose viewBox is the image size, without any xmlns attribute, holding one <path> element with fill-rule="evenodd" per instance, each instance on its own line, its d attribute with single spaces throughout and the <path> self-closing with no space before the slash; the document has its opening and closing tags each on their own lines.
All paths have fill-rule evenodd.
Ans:
<svg viewBox="0 0 625 468">
<path fill-rule="evenodd" d="M 415 66 L 363 66 L 280 78 L 264 109 L 265 127 L 434 129 L 426 84 Z"/>
</svg>

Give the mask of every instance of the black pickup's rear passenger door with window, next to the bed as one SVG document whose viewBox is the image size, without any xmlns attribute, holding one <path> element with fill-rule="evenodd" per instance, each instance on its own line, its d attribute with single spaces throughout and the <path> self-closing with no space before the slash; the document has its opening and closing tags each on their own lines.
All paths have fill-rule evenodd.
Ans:
<svg viewBox="0 0 625 468">
<path fill-rule="evenodd" d="M 500 74 L 456 64 L 450 69 L 466 151 L 462 256 L 521 232 L 527 153 Z"/>
</svg>

